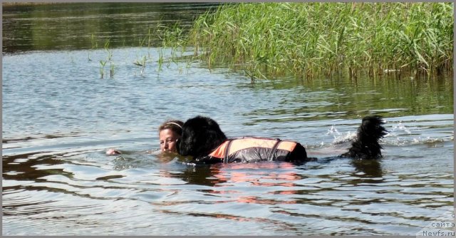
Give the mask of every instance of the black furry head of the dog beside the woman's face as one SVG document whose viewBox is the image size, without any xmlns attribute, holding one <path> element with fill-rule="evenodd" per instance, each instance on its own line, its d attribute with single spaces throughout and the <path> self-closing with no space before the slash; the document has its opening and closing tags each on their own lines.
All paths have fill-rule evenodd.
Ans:
<svg viewBox="0 0 456 238">
<path fill-rule="evenodd" d="M 177 152 L 193 157 L 209 155 L 224 140 L 227 140 L 227 137 L 215 120 L 197 116 L 190 118 L 182 126 L 182 137 L 177 143 Z"/>
</svg>

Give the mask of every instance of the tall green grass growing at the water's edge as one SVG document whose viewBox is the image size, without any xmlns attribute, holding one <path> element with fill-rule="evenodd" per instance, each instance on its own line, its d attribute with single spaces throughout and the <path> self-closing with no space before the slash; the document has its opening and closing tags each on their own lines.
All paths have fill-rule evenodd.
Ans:
<svg viewBox="0 0 456 238">
<path fill-rule="evenodd" d="M 453 23 L 452 3 L 224 4 L 199 16 L 185 43 L 209 67 L 252 77 L 430 75 L 452 70 Z"/>
</svg>

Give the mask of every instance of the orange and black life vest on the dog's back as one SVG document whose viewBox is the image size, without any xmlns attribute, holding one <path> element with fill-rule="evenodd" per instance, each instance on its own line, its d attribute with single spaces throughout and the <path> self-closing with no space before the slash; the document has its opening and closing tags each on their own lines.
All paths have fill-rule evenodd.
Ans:
<svg viewBox="0 0 456 238">
<path fill-rule="evenodd" d="M 291 156 L 292 153 L 296 152 Z M 202 162 L 259 162 L 259 161 L 290 161 L 307 158 L 304 147 L 294 141 L 271 138 L 235 138 L 226 140 L 206 157 Z"/>
</svg>

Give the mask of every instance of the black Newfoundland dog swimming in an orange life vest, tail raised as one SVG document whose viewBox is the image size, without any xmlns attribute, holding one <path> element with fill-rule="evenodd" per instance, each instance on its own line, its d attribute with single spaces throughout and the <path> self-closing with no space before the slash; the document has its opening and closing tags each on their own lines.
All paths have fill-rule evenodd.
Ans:
<svg viewBox="0 0 456 238">
<path fill-rule="evenodd" d="M 356 140 L 348 152 L 340 157 L 376 159 L 381 157 L 382 148 L 378 143 L 386 135 L 384 121 L 378 115 L 363 118 Z M 306 149 L 300 143 L 271 138 L 232 138 L 220 130 L 219 124 L 211 118 L 197 116 L 190 118 L 182 127 L 182 138 L 177 143 L 180 155 L 190 155 L 195 162 L 213 164 L 217 162 L 259 162 L 287 161 L 306 162 L 315 158 L 307 157 Z"/>
</svg>

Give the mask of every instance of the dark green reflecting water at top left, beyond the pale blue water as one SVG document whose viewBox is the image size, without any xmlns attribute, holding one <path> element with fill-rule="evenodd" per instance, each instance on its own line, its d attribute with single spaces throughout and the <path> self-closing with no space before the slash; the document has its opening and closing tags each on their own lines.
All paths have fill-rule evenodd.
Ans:
<svg viewBox="0 0 456 238">
<path fill-rule="evenodd" d="M 3 52 L 140 46 L 158 24 L 185 31 L 214 3 L 68 3 L 3 6 Z M 154 32 L 154 31 L 152 31 Z M 148 40 L 148 37 L 147 37 Z M 151 46 L 160 46 L 156 34 Z"/>
</svg>

